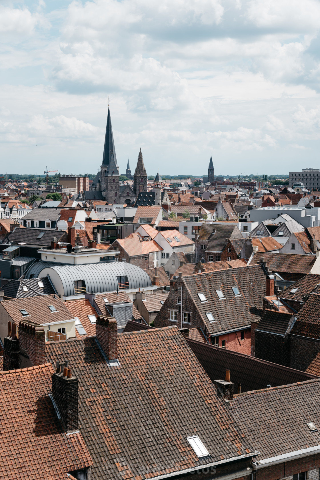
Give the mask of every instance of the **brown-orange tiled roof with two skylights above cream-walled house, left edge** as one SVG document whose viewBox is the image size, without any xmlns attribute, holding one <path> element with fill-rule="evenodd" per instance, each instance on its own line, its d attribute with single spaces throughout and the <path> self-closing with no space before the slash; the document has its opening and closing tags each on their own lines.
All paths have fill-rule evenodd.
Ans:
<svg viewBox="0 0 320 480">
<path fill-rule="evenodd" d="M 20 321 L 28 320 L 35 324 L 48 324 L 51 322 L 65 322 L 73 317 L 67 309 L 65 302 L 57 295 L 46 297 L 31 297 L 26 299 L 3 300 L 2 307 L 8 312 L 12 321 L 19 325 Z M 57 312 L 51 312 L 48 305 L 53 305 Z M 26 310 L 29 315 L 23 316 L 20 310 Z"/>
</svg>

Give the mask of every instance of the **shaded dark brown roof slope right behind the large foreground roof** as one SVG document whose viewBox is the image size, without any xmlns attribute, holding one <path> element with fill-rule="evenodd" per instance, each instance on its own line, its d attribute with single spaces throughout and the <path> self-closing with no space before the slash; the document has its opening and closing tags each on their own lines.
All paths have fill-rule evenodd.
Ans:
<svg viewBox="0 0 320 480">
<path fill-rule="evenodd" d="M 191 338 L 186 338 L 186 340 L 212 382 L 219 379 L 224 380 L 225 370 L 227 368 L 230 370 L 230 380 L 234 383 L 235 394 L 238 392 L 238 383 L 241 384 L 241 392 L 247 392 L 266 388 L 269 384 L 278 386 L 304 382 L 318 376 L 250 357 L 244 353 L 214 347 Z"/>
</svg>

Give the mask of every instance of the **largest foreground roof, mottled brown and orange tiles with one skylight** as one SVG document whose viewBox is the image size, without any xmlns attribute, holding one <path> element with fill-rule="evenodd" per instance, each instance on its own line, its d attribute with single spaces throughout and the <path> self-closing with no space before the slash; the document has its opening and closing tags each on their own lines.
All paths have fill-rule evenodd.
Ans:
<svg viewBox="0 0 320 480">
<path fill-rule="evenodd" d="M 46 358 L 54 365 L 68 358 L 78 377 L 79 427 L 94 479 L 119 479 L 123 465 L 128 479 L 201 467 L 208 458 L 186 439 L 194 434 L 210 462 L 254 452 L 177 327 L 119 334 L 115 368 L 93 337 L 50 342 Z"/>
</svg>

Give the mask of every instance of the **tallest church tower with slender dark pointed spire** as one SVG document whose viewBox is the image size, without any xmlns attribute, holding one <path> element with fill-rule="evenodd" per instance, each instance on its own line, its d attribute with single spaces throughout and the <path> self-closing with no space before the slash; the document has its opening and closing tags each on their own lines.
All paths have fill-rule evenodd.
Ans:
<svg viewBox="0 0 320 480">
<path fill-rule="evenodd" d="M 110 109 L 108 107 L 105 146 L 100 175 L 100 189 L 109 204 L 119 203 L 119 167 L 113 140 Z"/>
</svg>

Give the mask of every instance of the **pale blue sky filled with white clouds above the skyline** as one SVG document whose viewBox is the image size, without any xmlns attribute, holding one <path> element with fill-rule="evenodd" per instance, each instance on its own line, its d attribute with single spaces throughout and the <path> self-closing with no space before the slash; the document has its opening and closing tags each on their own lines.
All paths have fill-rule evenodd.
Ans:
<svg viewBox="0 0 320 480">
<path fill-rule="evenodd" d="M 319 168 L 320 1 L 0 1 L 0 172 Z"/>
</svg>

